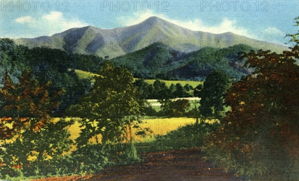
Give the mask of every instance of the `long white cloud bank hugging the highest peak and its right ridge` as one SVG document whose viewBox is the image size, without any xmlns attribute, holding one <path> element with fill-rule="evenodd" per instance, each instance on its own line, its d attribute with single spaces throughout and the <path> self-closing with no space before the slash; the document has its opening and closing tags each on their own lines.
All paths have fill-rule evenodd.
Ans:
<svg viewBox="0 0 299 181">
<path fill-rule="evenodd" d="M 216 24 L 213 26 L 208 26 L 205 25 L 204 22 L 201 19 L 194 19 L 194 20 L 189 20 L 189 21 L 182 21 L 182 20 L 176 20 L 176 19 L 171 19 L 163 14 L 157 14 L 152 11 L 147 11 L 147 12 L 142 12 L 142 13 L 135 13 L 133 17 L 125 17 L 122 16 L 119 18 L 119 21 L 125 25 L 134 25 L 137 23 L 140 23 L 147 18 L 151 16 L 157 16 L 160 17 L 168 22 L 171 22 L 173 24 L 179 25 L 181 27 L 193 30 L 193 31 L 204 31 L 204 32 L 210 32 L 210 33 L 225 33 L 225 32 L 232 32 L 238 35 L 246 36 L 249 38 L 257 38 L 254 34 L 251 34 L 248 32 L 247 29 L 240 27 L 237 25 L 236 20 L 228 19 L 228 18 L 223 18 L 222 22 L 220 24 Z"/>
</svg>

